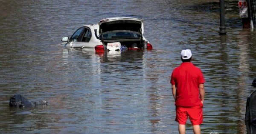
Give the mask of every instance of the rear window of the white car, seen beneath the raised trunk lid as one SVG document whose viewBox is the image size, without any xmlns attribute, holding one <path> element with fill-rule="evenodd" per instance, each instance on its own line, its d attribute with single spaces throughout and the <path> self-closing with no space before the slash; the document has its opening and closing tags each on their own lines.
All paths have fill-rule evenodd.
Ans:
<svg viewBox="0 0 256 134">
<path fill-rule="evenodd" d="M 140 38 L 140 33 L 134 31 L 111 31 L 103 33 L 103 40 L 114 39 L 137 39 Z"/>
</svg>

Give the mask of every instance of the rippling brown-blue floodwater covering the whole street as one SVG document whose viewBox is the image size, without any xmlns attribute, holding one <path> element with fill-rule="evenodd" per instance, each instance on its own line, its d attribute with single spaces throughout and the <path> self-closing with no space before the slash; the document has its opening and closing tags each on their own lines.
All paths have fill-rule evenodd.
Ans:
<svg viewBox="0 0 256 134">
<path fill-rule="evenodd" d="M 227 35 L 219 35 L 219 0 L 0 0 L 0 133 L 177 134 L 170 75 L 190 48 L 206 80 L 202 134 L 246 134 L 256 32 L 242 29 L 237 0 L 225 4 Z M 61 45 L 109 17 L 143 19 L 153 50 Z M 48 105 L 10 108 L 14 94 Z"/>
</svg>

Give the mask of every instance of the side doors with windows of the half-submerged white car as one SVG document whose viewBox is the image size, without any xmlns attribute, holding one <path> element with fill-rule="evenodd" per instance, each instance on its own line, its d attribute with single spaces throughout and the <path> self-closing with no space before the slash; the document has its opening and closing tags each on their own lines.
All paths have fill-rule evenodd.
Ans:
<svg viewBox="0 0 256 134">
<path fill-rule="evenodd" d="M 81 27 L 70 37 L 70 47 L 84 48 L 90 47 L 90 39 L 92 37 L 91 31 L 87 27 Z"/>
</svg>

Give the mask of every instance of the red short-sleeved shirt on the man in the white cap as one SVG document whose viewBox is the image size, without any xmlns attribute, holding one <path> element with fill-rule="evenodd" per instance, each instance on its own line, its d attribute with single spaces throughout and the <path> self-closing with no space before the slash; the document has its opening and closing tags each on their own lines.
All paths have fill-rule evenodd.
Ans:
<svg viewBox="0 0 256 134">
<path fill-rule="evenodd" d="M 199 84 L 204 83 L 202 71 L 191 62 L 181 63 L 175 68 L 171 76 L 171 84 L 175 85 L 177 106 L 200 105 Z"/>
</svg>

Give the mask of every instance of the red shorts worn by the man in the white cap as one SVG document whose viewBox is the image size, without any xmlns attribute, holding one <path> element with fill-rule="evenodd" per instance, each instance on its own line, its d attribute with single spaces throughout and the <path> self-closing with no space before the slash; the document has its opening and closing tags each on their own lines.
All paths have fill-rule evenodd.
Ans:
<svg viewBox="0 0 256 134">
<path fill-rule="evenodd" d="M 192 125 L 200 125 L 203 123 L 203 105 L 195 105 L 192 107 L 176 106 L 176 119 L 179 124 L 186 124 L 189 117 Z"/>
</svg>

